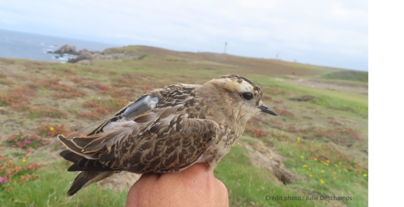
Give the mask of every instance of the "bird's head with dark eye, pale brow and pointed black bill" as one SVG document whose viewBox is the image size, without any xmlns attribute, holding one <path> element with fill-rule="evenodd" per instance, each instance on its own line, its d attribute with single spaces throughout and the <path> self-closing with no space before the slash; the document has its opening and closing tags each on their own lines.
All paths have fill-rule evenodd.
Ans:
<svg viewBox="0 0 404 207">
<path fill-rule="evenodd" d="M 276 112 L 263 104 L 263 92 L 251 80 L 238 75 L 225 75 L 205 83 L 204 98 L 210 107 L 219 109 L 224 115 L 247 122 L 264 112 L 277 116 Z"/>
</svg>

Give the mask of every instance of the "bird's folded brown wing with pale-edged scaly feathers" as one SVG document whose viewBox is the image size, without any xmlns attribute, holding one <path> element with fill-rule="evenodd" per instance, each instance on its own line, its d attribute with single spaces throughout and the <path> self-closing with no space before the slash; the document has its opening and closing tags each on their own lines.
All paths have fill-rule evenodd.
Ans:
<svg viewBox="0 0 404 207">
<path fill-rule="evenodd" d="M 110 123 L 100 134 L 71 140 L 59 136 L 70 151 L 84 157 L 69 171 L 167 172 L 195 163 L 220 129 L 212 120 L 189 119 L 180 112 L 183 107 L 156 108 L 134 120 Z M 154 121 L 138 122 L 150 119 Z"/>
</svg>

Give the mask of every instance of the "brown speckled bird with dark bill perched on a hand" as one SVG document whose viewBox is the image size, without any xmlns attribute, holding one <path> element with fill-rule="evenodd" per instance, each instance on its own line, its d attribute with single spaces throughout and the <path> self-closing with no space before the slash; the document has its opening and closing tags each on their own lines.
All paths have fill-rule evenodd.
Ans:
<svg viewBox="0 0 404 207">
<path fill-rule="evenodd" d="M 178 173 L 196 163 L 212 171 L 243 133 L 247 121 L 264 112 L 263 91 L 249 79 L 224 75 L 202 85 L 175 84 L 154 89 L 129 103 L 158 98 L 154 109 L 134 118 L 105 121 L 84 137 L 58 139 L 60 155 L 78 172 L 67 196 L 113 173 Z"/>
</svg>

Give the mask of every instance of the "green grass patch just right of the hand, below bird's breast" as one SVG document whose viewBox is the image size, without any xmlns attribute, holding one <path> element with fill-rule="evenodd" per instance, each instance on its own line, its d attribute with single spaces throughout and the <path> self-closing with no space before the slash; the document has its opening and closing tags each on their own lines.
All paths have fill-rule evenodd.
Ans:
<svg viewBox="0 0 404 207">
<path fill-rule="evenodd" d="M 299 196 L 276 180 L 265 170 L 254 167 L 246 155 L 247 149 L 239 146 L 223 158 L 215 169 L 215 176 L 221 180 L 229 192 L 231 206 L 259 207 L 312 207 L 309 201 L 267 201 L 266 196 Z M 252 205 L 254 204 L 254 205 Z"/>
</svg>

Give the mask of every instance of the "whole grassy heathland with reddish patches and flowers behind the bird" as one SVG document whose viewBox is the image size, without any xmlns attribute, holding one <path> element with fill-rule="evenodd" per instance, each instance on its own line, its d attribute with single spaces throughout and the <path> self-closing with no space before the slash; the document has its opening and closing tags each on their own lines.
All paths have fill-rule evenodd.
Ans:
<svg viewBox="0 0 404 207">
<path fill-rule="evenodd" d="M 279 116 L 249 121 L 215 169 L 231 206 L 369 207 L 369 75 L 368 82 L 336 81 L 323 77 L 349 70 L 146 46 L 104 52 L 109 59 L 77 64 L 0 58 L 0 177 L 7 177 L 0 206 L 123 206 L 127 180 L 113 182 L 124 190 L 97 183 L 67 199 L 75 173 L 58 156 L 61 144 L 28 152 L 153 88 L 239 74 L 261 86 L 263 102 Z M 267 195 L 353 199 L 279 202 Z"/>
</svg>

